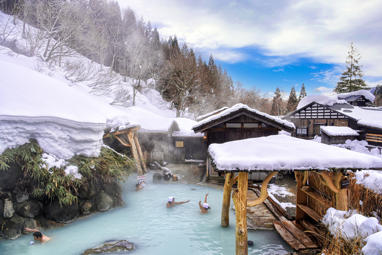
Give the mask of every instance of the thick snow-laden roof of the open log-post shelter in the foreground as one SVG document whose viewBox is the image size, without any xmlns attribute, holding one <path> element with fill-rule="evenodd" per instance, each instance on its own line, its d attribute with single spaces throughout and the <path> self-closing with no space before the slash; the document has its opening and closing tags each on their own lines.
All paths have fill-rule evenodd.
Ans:
<svg viewBox="0 0 382 255">
<path fill-rule="evenodd" d="M 211 144 L 208 152 L 220 171 L 382 168 L 378 157 L 285 135 Z"/>
</svg>

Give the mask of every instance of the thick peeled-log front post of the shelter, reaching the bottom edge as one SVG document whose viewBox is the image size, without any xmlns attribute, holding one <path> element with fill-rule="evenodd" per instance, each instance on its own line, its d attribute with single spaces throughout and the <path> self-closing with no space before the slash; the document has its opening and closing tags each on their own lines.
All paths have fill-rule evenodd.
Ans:
<svg viewBox="0 0 382 255">
<path fill-rule="evenodd" d="M 240 172 L 238 189 L 232 193 L 236 213 L 236 255 L 248 255 L 247 189 L 248 173 Z"/>
</svg>

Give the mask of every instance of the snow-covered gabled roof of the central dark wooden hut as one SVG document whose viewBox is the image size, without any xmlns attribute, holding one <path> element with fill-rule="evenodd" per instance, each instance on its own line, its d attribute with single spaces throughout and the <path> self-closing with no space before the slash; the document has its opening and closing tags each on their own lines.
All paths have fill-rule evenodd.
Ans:
<svg viewBox="0 0 382 255">
<path fill-rule="evenodd" d="M 202 121 L 197 122 L 192 127 L 192 129 L 196 129 L 197 127 L 200 127 L 200 126 L 202 126 L 202 125 L 204 125 L 206 123 L 209 123 L 210 121 L 214 121 L 216 119 L 222 118 L 223 116 L 226 116 L 226 115 L 228 115 L 230 113 L 233 113 L 235 111 L 239 111 L 239 110 L 242 110 L 242 109 L 245 109 L 245 110 L 251 111 L 253 113 L 256 113 L 258 115 L 264 116 L 267 119 L 270 119 L 272 121 L 278 122 L 278 123 L 280 123 L 280 124 L 282 124 L 284 126 L 287 126 L 289 128 L 293 128 L 293 129 L 295 128 L 295 125 L 293 123 L 291 123 L 291 122 L 289 122 L 289 121 L 287 121 L 285 119 L 280 119 L 280 118 L 277 118 L 275 116 L 271 116 L 269 114 L 262 113 L 261 111 L 257 111 L 255 109 L 249 108 L 248 105 L 244 105 L 242 103 L 238 103 L 238 104 L 234 105 L 231 108 L 228 108 L 228 109 L 226 109 L 226 110 L 224 110 L 224 111 L 222 111 L 222 112 L 220 112 L 218 114 L 209 116 L 208 118 L 203 119 Z"/>
</svg>

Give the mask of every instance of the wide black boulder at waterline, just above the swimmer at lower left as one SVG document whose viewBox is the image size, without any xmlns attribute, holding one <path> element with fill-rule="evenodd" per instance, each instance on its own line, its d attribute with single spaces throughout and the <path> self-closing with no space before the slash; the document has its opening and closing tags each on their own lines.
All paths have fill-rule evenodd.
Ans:
<svg viewBox="0 0 382 255">
<path fill-rule="evenodd" d="M 62 204 L 60 206 L 58 199 L 55 199 L 52 203 L 48 203 L 48 205 L 44 208 L 42 216 L 44 216 L 45 219 L 50 219 L 56 222 L 70 223 L 77 218 L 78 212 L 76 202 L 73 202 L 71 205 Z"/>
</svg>

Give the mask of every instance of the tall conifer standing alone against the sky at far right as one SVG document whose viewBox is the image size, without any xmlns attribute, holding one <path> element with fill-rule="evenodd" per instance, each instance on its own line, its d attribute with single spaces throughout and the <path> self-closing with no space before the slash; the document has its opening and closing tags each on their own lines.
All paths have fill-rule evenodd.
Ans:
<svg viewBox="0 0 382 255">
<path fill-rule="evenodd" d="M 353 92 L 367 87 L 365 81 L 362 79 L 363 72 L 361 68 L 363 65 L 359 65 L 358 61 L 361 59 L 361 53 L 358 52 L 357 48 L 354 47 L 353 42 L 349 46 L 348 53 L 346 57 L 346 71 L 342 73 L 340 81 L 337 82 L 337 86 L 334 88 L 333 92 L 345 93 Z"/>
</svg>

